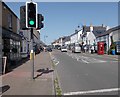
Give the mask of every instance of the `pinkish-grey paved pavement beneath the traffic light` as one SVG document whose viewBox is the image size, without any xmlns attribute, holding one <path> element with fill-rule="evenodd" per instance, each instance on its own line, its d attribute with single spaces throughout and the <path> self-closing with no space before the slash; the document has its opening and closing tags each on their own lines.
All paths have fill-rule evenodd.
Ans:
<svg viewBox="0 0 120 97">
<path fill-rule="evenodd" d="M 32 79 L 31 60 L 2 75 L 1 95 L 54 95 L 52 62 L 49 52 L 35 56 Z"/>
</svg>

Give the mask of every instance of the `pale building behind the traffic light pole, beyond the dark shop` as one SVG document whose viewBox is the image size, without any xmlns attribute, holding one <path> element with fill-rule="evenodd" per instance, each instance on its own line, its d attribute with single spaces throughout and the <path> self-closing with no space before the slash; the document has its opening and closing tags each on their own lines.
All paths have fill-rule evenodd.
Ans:
<svg viewBox="0 0 120 97">
<path fill-rule="evenodd" d="M 31 51 L 31 32 L 30 30 L 20 30 L 19 35 L 22 37 L 21 41 L 21 56 L 26 58 Z M 35 52 L 40 48 L 40 33 L 37 30 L 33 30 L 33 49 Z"/>
</svg>

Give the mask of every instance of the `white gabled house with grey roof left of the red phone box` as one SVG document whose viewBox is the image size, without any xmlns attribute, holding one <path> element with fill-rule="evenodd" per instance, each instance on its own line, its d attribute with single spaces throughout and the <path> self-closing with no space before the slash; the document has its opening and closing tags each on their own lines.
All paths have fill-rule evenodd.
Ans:
<svg viewBox="0 0 120 97">
<path fill-rule="evenodd" d="M 105 33 L 105 31 L 108 29 L 107 26 L 83 26 L 83 33 L 82 33 L 82 47 L 83 49 L 87 49 L 88 51 L 91 51 L 93 49 L 94 51 L 97 50 L 97 40 L 96 37 Z"/>
</svg>

